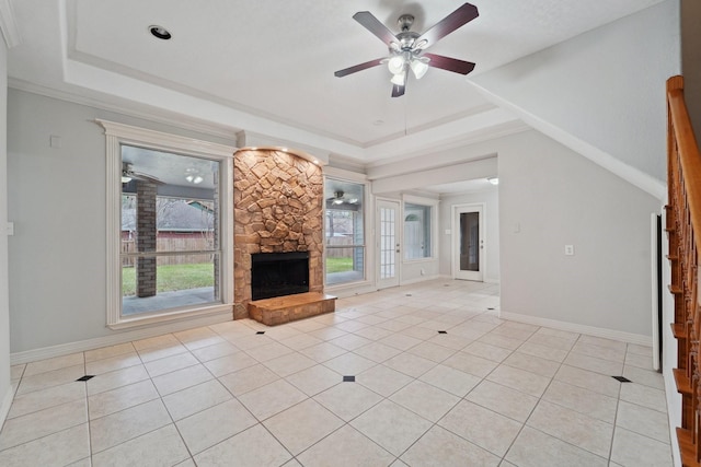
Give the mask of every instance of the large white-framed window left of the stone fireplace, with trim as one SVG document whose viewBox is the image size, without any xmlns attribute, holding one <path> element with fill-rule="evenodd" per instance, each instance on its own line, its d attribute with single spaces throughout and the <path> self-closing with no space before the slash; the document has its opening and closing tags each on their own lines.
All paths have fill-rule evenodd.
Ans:
<svg viewBox="0 0 701 467">
<path fill-rule="evenodd" d="M 107 325 L 230 313 L 234 149 L 100 124 L 107 136 Z"/>
</svg>

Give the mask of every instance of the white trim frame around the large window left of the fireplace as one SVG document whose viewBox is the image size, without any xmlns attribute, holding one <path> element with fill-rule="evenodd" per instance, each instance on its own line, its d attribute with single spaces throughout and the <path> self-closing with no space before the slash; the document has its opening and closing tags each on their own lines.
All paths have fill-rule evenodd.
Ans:
<svg viewBox="0 0 701 467">
<path fill-rule="evenodd" d="M 106 140 L 106 319 L 111 329 L 124 329 L 136 326 L 186 319 L 221 311 L 233 306 L 233 153 L 237 148 L 208 141 L 196 140 L 177 135 L 148 130 L 129 125 L 96 119 L 95 122 L 105 130 Z M 169 310 L 158 315 L 141 317 L 122 316 L 122 188 L 118 183 L 122 176 L 122 144 L 145 147 L 157 151 L 192 154 L 203 159 L 221 162 L 220 174 L 220 229 L 221 280 L 220 293 L 222 303 Z"/>
</svg>

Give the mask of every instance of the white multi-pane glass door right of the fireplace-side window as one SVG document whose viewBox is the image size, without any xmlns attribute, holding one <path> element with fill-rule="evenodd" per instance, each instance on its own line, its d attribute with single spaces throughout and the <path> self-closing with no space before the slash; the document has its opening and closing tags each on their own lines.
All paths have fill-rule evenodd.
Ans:
<svg viewBox="0 0 701 467">
<path fill-rule="evenodd" d="M 399 201 L 377 202 L 377 252 L 379 255 L 377 287 L 384 289 L 399 285 L 400 232 Z"/>
</svg>

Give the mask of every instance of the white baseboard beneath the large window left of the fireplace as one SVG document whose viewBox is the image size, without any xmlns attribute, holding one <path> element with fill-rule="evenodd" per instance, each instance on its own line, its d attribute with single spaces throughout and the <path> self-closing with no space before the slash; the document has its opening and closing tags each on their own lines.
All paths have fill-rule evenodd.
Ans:
<svg viewBox="0 0 701 467">
<path fill-rule="evenodd" d="M 54 357 L 67 355 L 85 350 L 100 349 L 101 347 L 116 346 L 118 343 L 130 342 L 133 340 L 146 339 L 169 332 L 192 329 L 202 326 L 209 326 L 217 323 L 225 323 L 232 319 L 231 311 L 219 312 L 205 317 L 169 323 L 160 326 L 135 329 L 124 332 L 116 332 L 110 336 L 96 337 L 93 339 L 79 340 L 76 342 L 61 343 L 58 346 L 43 347 L 39 349 L 26 350 L 24 352 L 10 353 L 10 364 L 35 362 L 37 360 L 51 359 Z"/>
</svg>

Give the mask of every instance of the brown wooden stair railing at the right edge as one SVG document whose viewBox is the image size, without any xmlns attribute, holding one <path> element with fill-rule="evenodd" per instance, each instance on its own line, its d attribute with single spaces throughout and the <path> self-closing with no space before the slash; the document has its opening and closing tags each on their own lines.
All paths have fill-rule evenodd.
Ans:
<svg viewBox="0 0 701 467">
<path fill-rule="evenodd" d="M 669 291 L 674 294 L 677 339 L 677 390 L 681 395 L 681 427 L 677 439 L 685 467 L 701 466 L 701 304 L 698 293 L 698 247 L 701 245 L 701 153 L 683 100 L 682 77 L 667 80 L 667 189 L 665 231 L 671 267 Z"/>
</svg>

